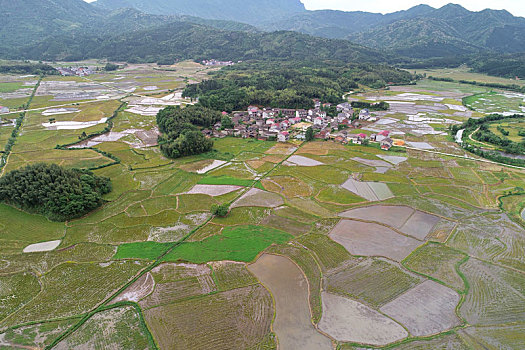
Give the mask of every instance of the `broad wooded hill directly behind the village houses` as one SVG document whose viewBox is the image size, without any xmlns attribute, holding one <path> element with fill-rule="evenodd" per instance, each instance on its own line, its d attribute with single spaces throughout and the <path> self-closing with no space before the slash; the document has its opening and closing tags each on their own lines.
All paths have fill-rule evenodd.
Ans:
<svg viewBox="0 0 525 350">
<path fill-rule="evenodd" d="M 339 103 L 343 94 L 359 84 L 383 87 L 389 82 L 407 84 L 412 79 L 406 71 L 383 65 L 246 62 L 189 85 L 184 96 L 199 97 L 202 106 L 219 111 L 244 110 L 250 104 L 306 109 L 313 107 L 313 98 Z"/>
</svg>

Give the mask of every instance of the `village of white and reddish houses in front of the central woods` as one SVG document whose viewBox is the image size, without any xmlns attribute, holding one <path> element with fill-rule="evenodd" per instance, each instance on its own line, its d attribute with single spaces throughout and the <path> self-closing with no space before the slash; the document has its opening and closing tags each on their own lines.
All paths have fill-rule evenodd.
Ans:
<svg viewBox="0 0 525 350">
<path fill-rule="evenodd" d="M 329 116 L 326 110 L 331 104 L 321 104 L 315 100 L 315 108 L 305 109 L 283 109 L 283 108 L 259 108 L 248 107 L 247 111 L 234 112 L 231 118 L 232 127 L 225 128 L 221 122 L 216 123 L 212 129 L 204 130 L 203 133 L 209 137 L 222 138 L 235 136 L 242 138 L 255 138 L 259 140 L 277 140 L 287 142 L 290 139 L 304 140 L 306 131 L 312 128 L 314 138 L 323 140 L 334 140 L 343 144 L 364 144 L 377 142 L 382 149 L 388 150 L 393 145 L 388 130 L 381 131 L 370 136 L 364 133 L 351 133 L 357 129 L 362 122 L 377 120 L 370 115 L 369 111 L 360 111 L 354 116 L 354 109 L 350 103 L 337 105 L 337 115 Z M 361 118 L 368 114 L 369 119 Z M 227 115 L 223 112 L 223 115 Z M 376 118 L 375 120 L 373 118 Z"/>
</svg>

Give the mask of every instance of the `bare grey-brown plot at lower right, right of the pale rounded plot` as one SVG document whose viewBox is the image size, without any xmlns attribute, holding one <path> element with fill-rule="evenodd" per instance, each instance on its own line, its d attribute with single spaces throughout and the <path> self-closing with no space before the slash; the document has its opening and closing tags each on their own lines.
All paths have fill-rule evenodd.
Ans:
<svg viewBox="0 0 525 350">
<path fill-rule="evenodd" d="M 461 322 L 455 314 L 459 295 L 434 281 L 425 281 L 381 307 L 381 312 L 401 322 L 414 336 L 429 336 Z"/>
</svg>

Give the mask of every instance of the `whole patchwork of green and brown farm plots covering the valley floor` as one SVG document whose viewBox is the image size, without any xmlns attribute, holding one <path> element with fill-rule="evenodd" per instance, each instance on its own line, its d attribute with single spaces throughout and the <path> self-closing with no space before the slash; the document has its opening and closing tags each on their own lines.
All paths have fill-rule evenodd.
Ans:
<svg viewBox="0 0 525 350">
<path fill-rule="evenodd" d="M 425 80 L 350 95 L 393 103 L 346 132 L 391 130 L 415 148 L 225 137 L 167 159 L 151 111 L 190 104 L 182 87 L 210 69 L 153 67 L 38 89 L 5 170 L 91 168 L 113 190 L 69 222 L 0 204 L 0 348 L 522 348 L 525 173 L 465 159 L 443 135 L 481 116 L 461 100 L 485 89 Z M 1 104 L 26 103 L 32 79 L 8 80 Z M 487 96 L 499 101 L 479 108 L 514 108 Z M 71 110 L 51 116 L 59 104 Z"/>
</svg>

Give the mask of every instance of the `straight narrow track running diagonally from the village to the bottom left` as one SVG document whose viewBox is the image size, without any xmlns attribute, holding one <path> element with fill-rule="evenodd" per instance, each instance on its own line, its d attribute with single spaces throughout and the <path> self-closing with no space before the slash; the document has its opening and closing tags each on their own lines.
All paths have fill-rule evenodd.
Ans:
<svg viewBox="0 0 525 350">
<path fill-rule="evenodd" d="M 255 179 L 252 183 L 252 185 L 250 187 L 247 187 L 244 191 L 241 191 L 237 197 L 235 197 L 231 202 L 230 204 L 234 203 L 236 200 L 238 200 L 239 198 L 241 198 L 244 194 L 246 194 L 248 191 L 250 191 L 251 189 L 255 188 L 256 184 L 262 180 L 262 179 L 265 179 L 266 177 L 268 177 L 277 167 L 279 167 L 282 163 L 284 163 L 285 161 L 288 160 L 288 158 L 290 158 L 291 156 L 293 156 L 302 146 L 303 144 L 300 144 L 292 153 L 290 153 L 289 155 L 287 155 L 281 162 L 279 163 L 276 163 L 272 169 L 270 169 L 269 171 L 267 171 L 266 173 L 264 173 L 263 175 L 261 175 L 259 178 Z M 150 272 L 151 270 L 153 270 L 155 267 L 159 266 L 161 264 L 161 261 L 162 261 L 162 258 L 165 257 L 166 255 L 168 255 L 169 253 L 171 253 L 175 248 L 177 248 L 178 246 L 180 246 L 182 243 L 186 242 L 188 239 L 191 238 L 191 236 L 197 232 L 200 228 L 204 227 L 205 225 L 207 225 L 211 220 L 214 219 L 214 216 L 212 215 L 210 218 L 208 218 L 204 223 L 202 223 L 201 225 L 197 226 L 196 228 L 194 228 L 190 233 L 188 233 L 186 236 L 184 236 L 180 241 L 178 241 L 177 243 L 174 243 L 171 247 L 169 247 L 163 254 L 161 254 L 160 256 L 157 257 L 157 259 L 151 263 L 149 266 L 147 266 L 145 269 L 143 269 L 142 271 L 140 271 L 137 275 L 135 275 L 135 277 L 133 277 L 130 281 L 128 281 L 126 284 L 124 284 L 120 289 L 118 289 L 116 292 L 114 292 L 110 297 L 106 298 L 105 300 L 103 300 L 101 303 L 99 303 L 99 305 L 94 308 L 93 310 L 91 310 L 90 312 L 84 314 L 84 317 L 75 325 L 71 326 L 69 329 L 67 329 L 64 333 L 62 333 L 60 336 L 58 336 L 50 345 L 48 345 L 45 349 L 48 350 L 48 349 L 52 349 L 54 348 L 56 345 L 58 345 L 58 343 L 60 343 L 61 341 L 63 341 L 64 339 L 66 339 L 69 335 L 73 334 L 77 329 L 79 329 L 84 323 L 86 323 L 89 319 L 91 319 L 91 317 L 93 317 L 93 315 L 95 315 L 96 313 L 98 312 L 101 312 L 101 311 L 104 311 L 105 308 L 108 307 L 109 303 L 111 303 L 111 301 L 113 301 L 119 294 L 121 294 L 124 290 L 126 290 L 126 288 L 128 288 L 130 285 L 132 285 L 133 283 L 135 283 L 139 278 L 141 278 L 144 274 Z M 136 304 L 136 303 L 132 303 L 132 304 Z M 148 337 L 151 336 L 151 332 L 149 331 L 148 329 Z M 155 344 L 155 348 L 158 348 L 157 347 L 157 344 Z"/>
</svg>

